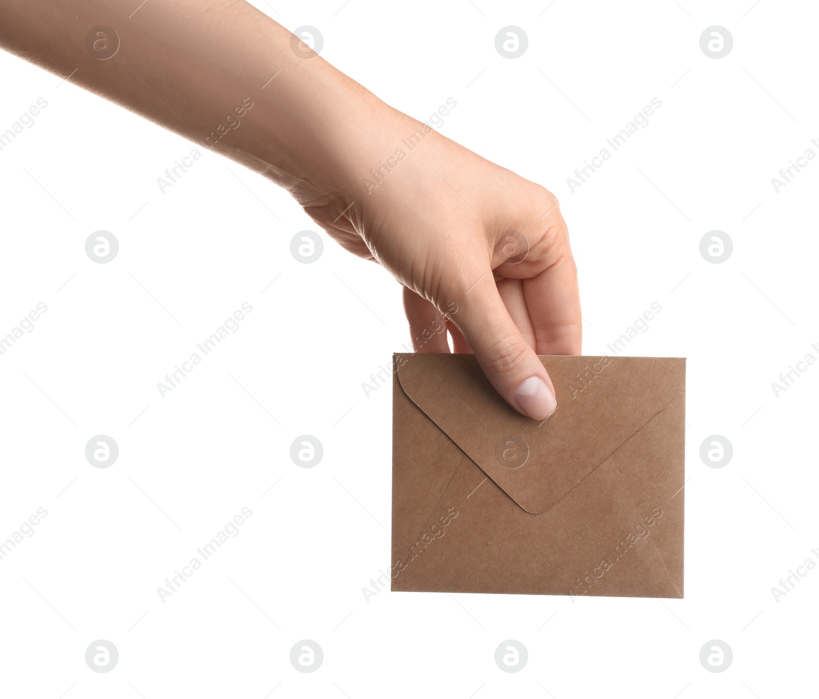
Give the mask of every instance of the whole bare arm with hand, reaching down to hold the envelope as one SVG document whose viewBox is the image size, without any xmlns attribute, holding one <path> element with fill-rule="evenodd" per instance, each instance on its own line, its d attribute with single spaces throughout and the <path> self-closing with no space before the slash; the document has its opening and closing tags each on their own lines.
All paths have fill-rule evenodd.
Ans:
<svg viewBox="0 0 819 699">
<path fill-rule="evenodd" d="M 449 352 L 446 333 L 429 331 L 446 322 L 455 352 L 473 352 L 513 408 L 554 412 L 536 355 L 580 354 L 581 315 L 553 194 L 393 109 L 247 2 L 137 5 L 3 0 L 0 46 L 205 147 L 250 97 L 213 150 L 396 277 L 416 351 Z M 97 26 L 120 39 L 107 60 L 86 48 Z M 382 169 L 398 149 L 405 159 Z"/>
</svg>

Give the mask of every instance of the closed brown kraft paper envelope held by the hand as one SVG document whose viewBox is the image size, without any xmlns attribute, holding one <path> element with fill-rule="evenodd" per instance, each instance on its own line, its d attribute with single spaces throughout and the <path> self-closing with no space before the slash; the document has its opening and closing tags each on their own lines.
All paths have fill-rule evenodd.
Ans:
<svg viewBox="0 0 819 699">
<path fill-rule="evenodd" d="M 394 355 L 391 589 L 681 598 L 686 360 L 540 359 L 545 422 L 473 355 Z"/>
</svg>

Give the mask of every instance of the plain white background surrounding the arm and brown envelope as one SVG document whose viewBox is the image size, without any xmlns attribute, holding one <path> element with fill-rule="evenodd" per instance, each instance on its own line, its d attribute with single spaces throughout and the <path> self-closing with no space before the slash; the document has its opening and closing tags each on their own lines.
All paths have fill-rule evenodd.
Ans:
<svg viewBox="0 0 819 699">
<path fill-rule="evenodd" d="M 627 352 L 688 359 L 686 598 L 365 601 L 390 562 L 391 387 L 366 397 L 361 385 L 409 344 L 399 286 L 324 232 L 324 255 L 296 262 L 290 240 L 314 224 L 210 152 L 161 193 L 156 178 L 192 144 L 0 54 L 0 129 L 48 101 L 0 152 L 0 335 L 48 306 L 0 357 L 0 540 L 48 510 L 0 561 L 3 695 L 766 699 L 815 687 L 819 571 L 779 602 L 771 588 L 819 561 L 819 366 L 778 397 L 771 382 L 819 357 L 819 162 L 779 193 L 771 178 L 819 138 L 819 11 L 549 2 L 256 4 L 289 29 L 319 28 L 324 57 L 410 115 L 453 97 L 441 133 L 559 196 L 584 354 L 662 305 Z M 529 38 L 518 59 L 495 51 L 505 25 Z M 720 60 L 699 47 L 711 25 L 734 38 Z M 663 106 L 649 125 L 571 193 L 574 169 L 652 97 Z M 110 264 L 85 254 L 98 229 L 120 241 Z M 713 229 L 734 243 L 723 264 L 699 253 Z M 241 329 L 161 398 L 157 381 L 245 301 Z M 84 457 L 100 434 L 120 448 L 107 469 Z M 289 457 L 304 434 L 324 444 L 312 469 Z M 714 434 L 733 444 L 721 469 L 699 458 Z M 242 507 L 241 534 L 161 602 L 157 587 Z M 120 652 L 107 674 L 84 662 L 98 638 Z M 312 674 L 289 661 L 302 638 L 324 649 Z M 507 638 L 529 652 L 517 674 L 495 665 Z M 722 674 L 699 663 L 713 638 L 734 652 Z"/>
</svg>

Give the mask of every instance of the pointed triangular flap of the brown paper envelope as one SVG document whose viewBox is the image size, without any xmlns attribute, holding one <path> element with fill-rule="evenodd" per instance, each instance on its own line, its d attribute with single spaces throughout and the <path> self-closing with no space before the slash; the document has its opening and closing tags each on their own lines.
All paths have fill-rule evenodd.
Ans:
<svg viewBox="0 0 819 699">
<path fill-rule="evenodd" d="M 396 354 L 401 389 L 527 512 L 545 512 L 681 390 L 685 359 L 541 356 L 558 409 L 500 398 L 471 354 Z M 680 416 L 683 419 L 683 416 Z"/>
</svg>

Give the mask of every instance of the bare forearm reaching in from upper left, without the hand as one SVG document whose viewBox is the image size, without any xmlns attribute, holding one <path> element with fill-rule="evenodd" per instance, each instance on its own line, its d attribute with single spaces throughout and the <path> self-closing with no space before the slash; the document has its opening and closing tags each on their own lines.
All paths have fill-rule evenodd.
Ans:
<svg viewBox="0 0 819 699">
<path fill-rule="evenodd" d="M 355 182 L 374 120 L 394 118 L 320 56 L 297 55 L 292 34 L 247 2 L 132 5 L 5 0 L 0 45 L 247 165 L 301 204 Z M 98 26 L 113 33 L 97 36 Z"/>
</svg>

